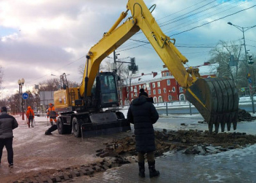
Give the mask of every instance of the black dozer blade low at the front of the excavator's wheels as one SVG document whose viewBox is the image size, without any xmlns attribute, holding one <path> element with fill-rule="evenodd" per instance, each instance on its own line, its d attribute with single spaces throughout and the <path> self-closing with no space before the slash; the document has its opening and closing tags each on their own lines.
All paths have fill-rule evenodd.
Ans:
<svg viewBox="0 0 256 183">
<path fill-rule="evenodd" d="M 82 137 L 109 135 L 131 130 L 127 119 L 116 113 L 98 113 L 90 116 L 91 123 L 82 124 Z"/>
</svg>

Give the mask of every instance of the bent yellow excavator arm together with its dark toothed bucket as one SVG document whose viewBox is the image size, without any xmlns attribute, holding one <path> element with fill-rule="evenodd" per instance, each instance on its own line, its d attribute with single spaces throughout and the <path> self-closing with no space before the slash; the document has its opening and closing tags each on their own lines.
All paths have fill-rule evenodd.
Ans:
<svg viewBox="0 0 256 183">
<path fill-rule="evenodd" d="M 128 11 L 132 16 L 117 27 L 126 18 Z M 234 83 L 229 78 L 201 78 L 199 70 L 195 68 L 186 70 L 183 64 L 188 61 L 187 58 L 174 46 L 175 39 L 162 32 L 143 0 L 128 0 L 126 12 L 121 13 L 112 28 L 88 52 L 80 96 L 91 95 L 101 61 L 139 30 L 142 30 L 177 82 L 186 89 L 187 99 L 209 123 L 210 132 L 213 124 L 215 132 L 218 132 L 219 124 L 224 131 L 225 121 L 228 130 L 231 122 L 235 129 L 238 94 Z"/>
</svg>

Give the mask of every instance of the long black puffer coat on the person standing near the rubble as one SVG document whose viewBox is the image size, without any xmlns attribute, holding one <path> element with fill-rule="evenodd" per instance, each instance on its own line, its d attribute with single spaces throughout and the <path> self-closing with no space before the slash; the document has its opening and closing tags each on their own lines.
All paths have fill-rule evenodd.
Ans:
<svg viewBox="0 0 256 183">
<path fill-rule="evenodd" d="M 138 152 L 148 153 L 156 150 L 153 124 L 157 122 L 158 118 L 155 106 L 148 102 L 145 96 L 140 96 L 132 101 L 127 119 L 134 124 Z"/>
</svg>

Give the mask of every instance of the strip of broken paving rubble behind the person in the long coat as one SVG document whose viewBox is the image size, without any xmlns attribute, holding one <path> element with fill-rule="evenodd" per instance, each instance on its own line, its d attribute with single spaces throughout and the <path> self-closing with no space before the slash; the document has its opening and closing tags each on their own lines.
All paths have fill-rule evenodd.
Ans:
<svg viewBox="0 0 256 183">
<path fill-rule="evenodd" d="M 172 151 L 183 150 L 186 154 L 215 154 L 234 148 L 243 148 L 247 144 L 256 144 L 255 135 L 246 133 L 220 133 L 210 134 L 207 131 L 178 130 L 162 132 L 155 131 L 156 152 L 155 156 Z M 97 150 L 97 156 L 130 156 L 137 155 L 135 137 L 128 136 L 106 143 L 105 149 Z"/>
</svg>

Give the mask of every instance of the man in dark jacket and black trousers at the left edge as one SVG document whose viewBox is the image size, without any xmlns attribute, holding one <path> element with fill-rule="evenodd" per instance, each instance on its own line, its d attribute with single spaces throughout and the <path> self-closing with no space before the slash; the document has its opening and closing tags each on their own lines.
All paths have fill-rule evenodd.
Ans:
<svg viewBox="0 0 256 183">
<path fill-rule="evenodd" d="M 3 153 L 3 147 L 5 146 L 7 150 L 7 160 L 9 163 L 9 167 L 11 168 L 13 167 L 12 130 L 17 127 L 17 120 L 13 116 L 7 114 L 6 107 L 2 107 L 0 115 L 0 164 Z"/>
</svg>

